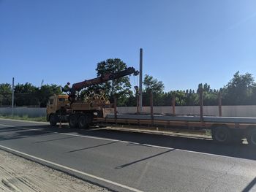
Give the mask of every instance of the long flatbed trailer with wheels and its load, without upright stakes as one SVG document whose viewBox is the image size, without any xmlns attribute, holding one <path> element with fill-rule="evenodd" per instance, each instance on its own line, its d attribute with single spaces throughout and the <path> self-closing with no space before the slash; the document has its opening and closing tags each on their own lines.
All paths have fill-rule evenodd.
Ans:
<svg viewBox="0 0 256 192">
<path fill-rule="evenodd" d="M 256 118 L 108 114 L 105 118 L 97 118 L 96 121 L 165 128 L 178 126 L 210 129 L 211 136 L 216 142 L 241 142 L 241 139 L 245 138 L 250 146 L 256 147 Z"/>
</svg>

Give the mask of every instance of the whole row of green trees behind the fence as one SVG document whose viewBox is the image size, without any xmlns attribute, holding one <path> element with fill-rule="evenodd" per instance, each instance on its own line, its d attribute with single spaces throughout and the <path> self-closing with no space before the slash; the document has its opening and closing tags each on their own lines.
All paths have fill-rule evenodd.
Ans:
<svg viewBox="0 0 256 192">
<path fill-rule="evenodd" d="M 123 61 L 118 58 L 107 59 L 97 64 L 97 76 L 109 72 L 120 72 L 127 67 Z M 150 105 L 150 94 L 153 93 L 155 106 L 170 106 L 175 97 L 176 106 L 199 105 L 199 88 L 203 89 L 203 104 L 217 105 L 219 91 L 222 93 L 223 105 L 243 105 L 256 104 L 256 83 L 252 74 L 240 74 L 236 72 L 232 80 L 227 82 L 223 88 L 212 89 L 207 83 L 200 83 L 197 90 L 176 90 L 164 91 L 165 85 L 161 80 L 157 80 L 151 75 L 146 74 L 143 81 L 143 106 Z M 118 106 L 136 106 L 137 98 L 132 94 L 129 77 L 122 77 L 118 80 L 105 82 L 97 87 L 105 91 L 110 101 L 113 102 L 113 96 L 118 98 Z M 88 90 L 94 90 L 88 88 Z M 81 91 L 81 95 L 86 93 Z M 50 96 L 61 94 L 59 85 L 41 85 L 36 87 L 29 82 L 15 85 L 15 105 L 37 105 L 45 107 Z M 12 88 L 9 83 L 0 84 L 0 105 L 10 105 L 12 103 Z"/>
</svg>

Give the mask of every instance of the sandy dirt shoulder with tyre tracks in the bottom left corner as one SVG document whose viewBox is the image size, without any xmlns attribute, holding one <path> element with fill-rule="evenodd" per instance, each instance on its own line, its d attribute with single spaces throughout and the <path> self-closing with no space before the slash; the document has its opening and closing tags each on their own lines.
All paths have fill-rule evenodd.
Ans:
<svg viewBox="0 0 256 192">
<path fill-rule="evenodd" d="M 108 191 L 0 150 L 0 191 Z"/>
</svg>

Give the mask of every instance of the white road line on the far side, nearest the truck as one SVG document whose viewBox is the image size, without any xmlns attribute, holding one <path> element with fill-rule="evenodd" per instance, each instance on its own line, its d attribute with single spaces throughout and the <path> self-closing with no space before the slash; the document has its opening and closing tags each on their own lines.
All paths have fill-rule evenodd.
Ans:
<svg viewBox="0 0 256 192">
<path fill-rule="evenodd" d="M 0 124 L 0 126 L 14 127 L 14 126 L 5 125 L 5 124 Z M 202 154 L 202 155 L 211 155 L 211 156 L 222 157 L 222 158 L 237 158 L 237 157 L 217 155 L 217 154 L 212 154 L 212 153 L 203 153 L 203 152 L 198 152 L 198 151 L 193 151 L 193 150 L 181 150 L 181 149 L 176 149 L 176 148 L 172 148 L 172 147 L 162 147 L 162 146 L 159 146 L 159 145 L 149 145 L 149 144 L 143 144 L 143 143 L 139 143 L 139 142 L 129 142 L 129 141 L 118 140 L 118 139 L 106 139 L 106 138 L 103 138 L 103 137 L 94 137 L 94 136 L 86 136 L 86 135 L 79 135 L 79 134 L 65 134 L 65 133 L 59 133 L 59 132 L 55 132 L 55 131 L 45 131 L 45 130 L 42 130 L 41 128 L 26 128 L 26 127 L 23 127 L 23 128 L 20 128 L 20 129 L 29 129 L 29 130 L 33 130 L 33 131 L 42 131 L 42 132 L 46 132 L 46 133 L 63 134 L 63 135 L 75 136 L 75 137 L 84 137 L 84 138 L 89 138 L 89 139 L 100 139 L 100 140 L 105 140 L 105 141 L 110 141 L 110 142 L 122 142 L 122 143 L 140 145 L 140 146 L 144 146 L 144 147 L 156 147 L 156 148 L 167 149 L 167 150 L 178 150 L 178 151 L 184 151 L 184 152 L 189 152 L 189 153 L 197 153 L 197 154 Z M 243 158 L 237 158 L 237 159 L 243 159 Z"/>
</svg>

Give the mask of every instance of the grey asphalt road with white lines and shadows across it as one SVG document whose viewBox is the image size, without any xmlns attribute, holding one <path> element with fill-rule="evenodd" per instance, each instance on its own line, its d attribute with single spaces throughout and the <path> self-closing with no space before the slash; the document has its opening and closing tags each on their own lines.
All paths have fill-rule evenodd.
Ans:
<svg viewBox="0 0 256 192">
<path fill-rule="evenodd" d="M 256 191 L 256 150 L 0 119 L 0 148 L 113 191 Z"/>
</svg>

